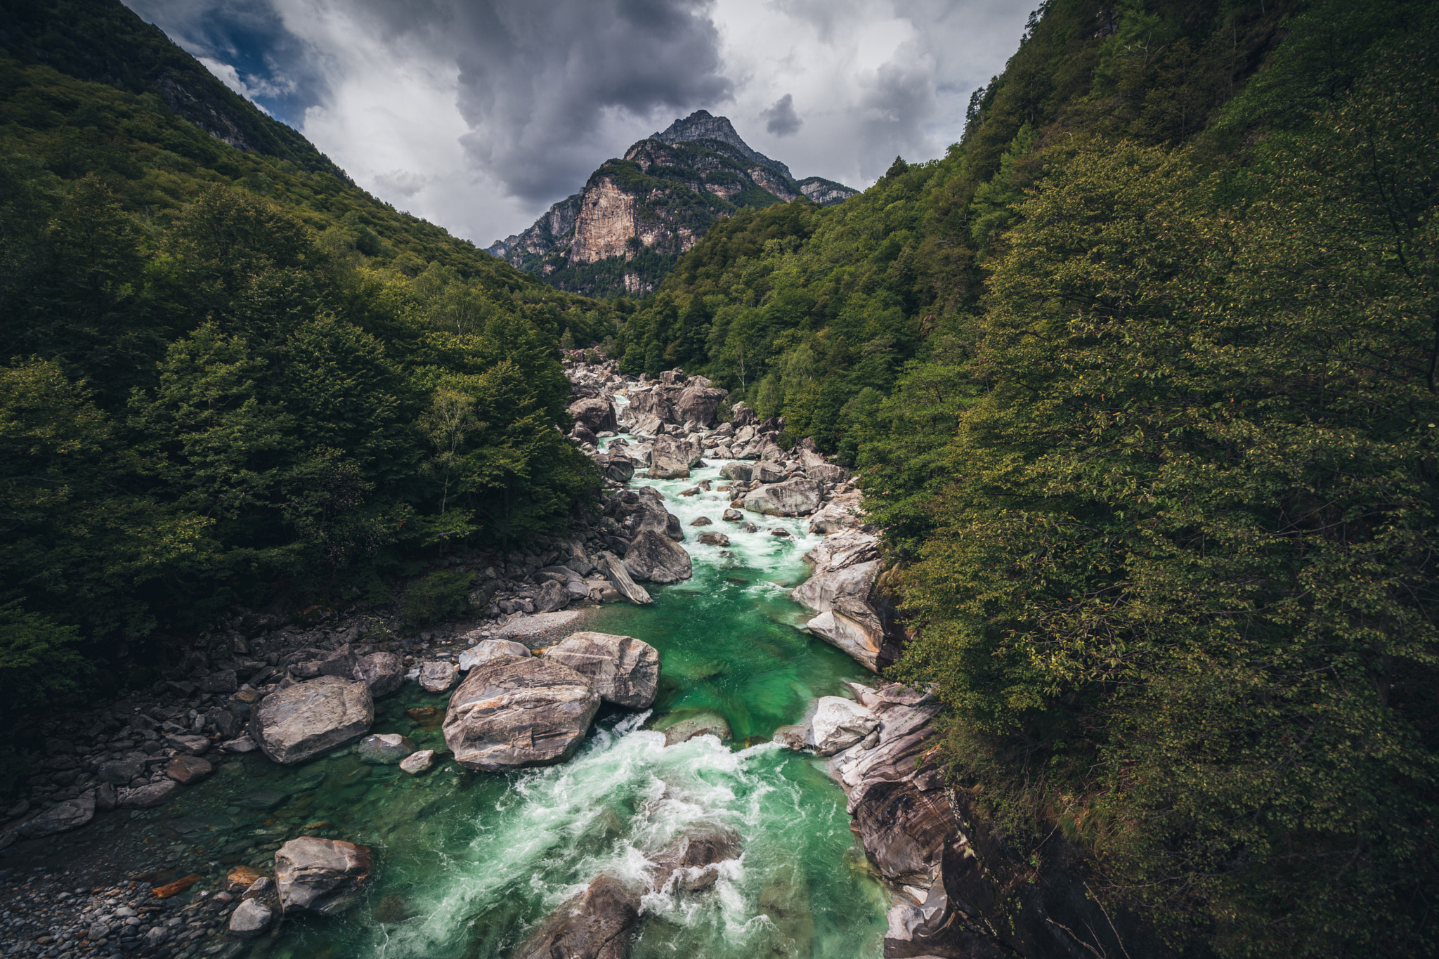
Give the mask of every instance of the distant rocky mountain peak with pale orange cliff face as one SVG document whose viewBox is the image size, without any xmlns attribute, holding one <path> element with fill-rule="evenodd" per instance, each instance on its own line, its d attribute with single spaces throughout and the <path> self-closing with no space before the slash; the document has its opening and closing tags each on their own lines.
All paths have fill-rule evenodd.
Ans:
<svg viewBox="0 0 1439 959">
<path fill-rule="evenodd" d="M 607 161 L 584 190 L 489 253 L 561 289 L 646 293 L 720 217 L 799 197 L 832 206 L 856 193 L 820 177 L 794 180 L 728 118 L 696 111 Z"/>
</svg>

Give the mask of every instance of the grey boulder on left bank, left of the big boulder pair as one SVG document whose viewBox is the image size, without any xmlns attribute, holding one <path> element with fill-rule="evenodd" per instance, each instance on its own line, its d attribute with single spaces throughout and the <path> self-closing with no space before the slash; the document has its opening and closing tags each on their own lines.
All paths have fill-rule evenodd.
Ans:
<svg viewBox="0 0 1439 959">
<path fill-rule="evenodd" d="M 374 723 L 370 687 L 338 676 L 319 676 L 263 700 L 250 719 L 260 751 L 283 765 L 304 762 L 354 742 Z"/>
</svg>

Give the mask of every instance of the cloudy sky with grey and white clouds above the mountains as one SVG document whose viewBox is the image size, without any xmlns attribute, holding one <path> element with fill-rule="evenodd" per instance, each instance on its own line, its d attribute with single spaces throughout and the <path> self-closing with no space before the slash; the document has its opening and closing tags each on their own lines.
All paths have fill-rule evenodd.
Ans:
<svg viewBox="0 0 1439 959">
<path fill-rule="evenodd" d="M 488 246 L 695 109 L 796 177 L 944 154 L 1038 0 L 125 0 L 361 187 Z"/>
</svg>

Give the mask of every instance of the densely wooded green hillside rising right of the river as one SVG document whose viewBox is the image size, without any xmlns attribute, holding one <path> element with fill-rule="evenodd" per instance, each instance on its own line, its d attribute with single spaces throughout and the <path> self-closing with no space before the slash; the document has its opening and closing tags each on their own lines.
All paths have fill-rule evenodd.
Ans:
<svg viewBox="0 0 1439 959">
<path fill-rule="evenodd" d="M 606 344 L 855 464 L 964 802 L 1220 955 L 1439 947 L 1436 24 L 1052 0 L 943 160 Z"/>
</svg>

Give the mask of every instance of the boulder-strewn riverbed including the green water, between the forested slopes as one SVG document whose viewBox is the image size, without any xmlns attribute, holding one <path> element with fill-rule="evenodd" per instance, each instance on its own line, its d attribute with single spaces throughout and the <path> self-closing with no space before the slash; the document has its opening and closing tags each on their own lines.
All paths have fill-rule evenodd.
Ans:
<svg viewBox="0 0 1439 959">
<path fill-rule="evenodd" d="M 862 680 L 849 474 L 699 377 L 571 377 L 600 509 L 437 564 L 468 618 L 239 614 L 36 730 L 6 955 L 921 955 L 961 837 L 932 705 Z"/>
</svg>

